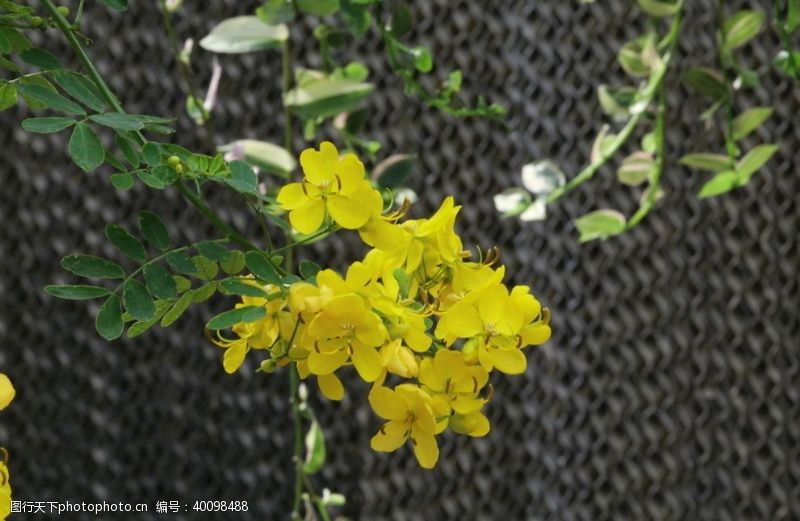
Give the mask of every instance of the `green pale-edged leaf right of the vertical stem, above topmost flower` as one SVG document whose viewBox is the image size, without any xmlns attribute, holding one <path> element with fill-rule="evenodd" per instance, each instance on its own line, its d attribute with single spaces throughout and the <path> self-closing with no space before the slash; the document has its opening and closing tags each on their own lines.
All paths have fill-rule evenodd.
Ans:
<svg viewBox="0 0 800 521">
<path fill-rule="evenodd" d="M 289 91 L 284 104 L 304 119 L 327 118 L 356 109 L 374 89 L 371 83 L 319 80 Z"/>
</svg>

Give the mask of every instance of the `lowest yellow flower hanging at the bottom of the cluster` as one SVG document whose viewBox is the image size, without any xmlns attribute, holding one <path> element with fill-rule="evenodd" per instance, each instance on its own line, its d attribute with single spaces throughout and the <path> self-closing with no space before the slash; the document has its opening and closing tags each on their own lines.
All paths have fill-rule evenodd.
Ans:
<svg viewBox="0 0 800 521">
<path fill-rule="evenodd" d="M 387 420 L 370 440 L 373 450 L 393 452 L 410 439 L 419 464 L 426 469 L 436 466 L 439 447 L 435 435 L 447 425 L 436 421 L 442 411 L 427 392 L 412 384 L 401 384 L 394 390 L 375 387 L 369 393 L 369 403 Z"/>
</svg>

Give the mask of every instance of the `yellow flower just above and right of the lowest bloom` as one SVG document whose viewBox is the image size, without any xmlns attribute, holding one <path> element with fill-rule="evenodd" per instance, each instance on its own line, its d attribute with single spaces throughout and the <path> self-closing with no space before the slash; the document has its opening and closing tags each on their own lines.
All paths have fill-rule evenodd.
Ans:
<svg viewBox="0 0 800 521">
<path fill-rule="evenodd" d="M 459 414 L 480 410 L 486 400 L 478 393 L 489 381 L 489 373 L 481 366 L 467 365 L 460 351 L 440 349 L 433 358 L 425 358 L 419 366 L 419 383 L 431 395 L 442 396 Z"/>
</svg>

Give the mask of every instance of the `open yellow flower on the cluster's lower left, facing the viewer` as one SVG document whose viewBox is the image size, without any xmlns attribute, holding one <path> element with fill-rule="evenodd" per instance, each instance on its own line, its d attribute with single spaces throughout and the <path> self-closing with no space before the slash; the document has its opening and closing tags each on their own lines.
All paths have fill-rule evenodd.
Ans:
<svg viewBox="0 0 800 521">
<path fill-rule="evenodd" d="M 383 360 L 377 347 L 386 340 L 386 328 L 359 295 L 330 299 L 308 325 L 307 334 L 313 340 L 308 347 L 311 373 L 331 374 L 351 360 L 364 381 L 380 375 Z"/>
</svg>

